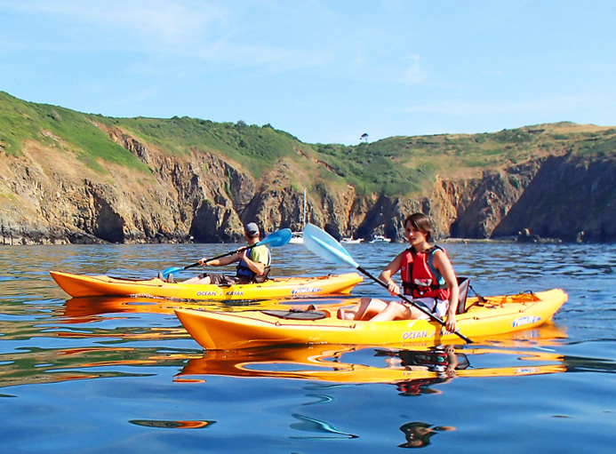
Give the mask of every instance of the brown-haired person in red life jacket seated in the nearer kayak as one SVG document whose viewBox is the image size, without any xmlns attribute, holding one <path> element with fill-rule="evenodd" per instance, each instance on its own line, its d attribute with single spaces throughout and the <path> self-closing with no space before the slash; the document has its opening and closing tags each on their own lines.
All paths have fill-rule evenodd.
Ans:
<svg viewBox="0 0 616 454">
<path fill-rule="evenodd" d="M 400 287 L 392 275 L 400 271 L 404 295 L 423 306 L 433 315 L 443 319 L 446 316 L 447 331 L 456 331 L 456 308 L 460 297 L 458 279 L 453 272 L 452 262 L 445 251 L 432 246 L 434 235 L 432 221 L 423 213 L 414 213 L 404 219 L 406 239 L 411 247 L 400 252 L 380 273 L 379 278 L 388 284 L 392 296 L 400 294 Z M 429 319 L 417 307 L 404 300 L 384 301 L 364 297 L 351 309 L 340 309 L 338 316 L 343 320 L 406 320 Z"/>
</svg>

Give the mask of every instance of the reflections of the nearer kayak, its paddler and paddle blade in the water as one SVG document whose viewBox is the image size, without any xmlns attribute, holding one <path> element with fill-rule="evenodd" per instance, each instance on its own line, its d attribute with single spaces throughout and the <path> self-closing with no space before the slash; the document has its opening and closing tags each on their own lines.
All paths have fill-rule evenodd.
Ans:
<svg viewBox="0 0 616 454">
<path fill-rule="evenodd" d="M 319 384 L 321 393 L 306 394 L 310 401 L 302 405 L 315 405 L 334 402 L 336 394 L 324 390 L 340 386 L 382 383 L 396 386 L 403 395 L 436 394 L 444 390 L 432 386 L 442 388 L 456 378 L 521 377 L 567 370 L 562 355 L 545 351 L 545 346 L 563 335 L 561 331 L 548 327 L 543 339 L 540 330 L 528 332 L 526 337 L 523 332 L 517 333 L 516 338 L 503 338 L 498 344 L 484 346 L 413 346 L 410 349 L 314 345 L 206 351 L 200 357 L 190 358 L 174 381 L 203 384 L 210 377 L 220 376 L 309 380 Z M 537 339 L 542 340 L 543 347 L 533 349 Z M 492 365 L 493 362 L 498 365 Z M 290 414 L 297 420 L 290 428 L 307 433 L 293 434 L 292 439 L 351 439 L 363 434 L 347 430 L 340 422 L 334 425 L 297 410 Z M 400 426 L 400 430 L 405 442 L 399 447 L 421 448 L 428 446 L 435 434 L 455 428 L 415 421 Z"/>
</svg>

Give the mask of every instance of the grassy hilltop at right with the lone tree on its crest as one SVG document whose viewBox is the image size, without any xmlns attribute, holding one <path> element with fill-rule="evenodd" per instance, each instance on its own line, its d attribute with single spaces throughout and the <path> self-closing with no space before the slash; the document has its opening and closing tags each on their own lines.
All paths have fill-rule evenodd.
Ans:
<svg viewBox="0 0 616 454">
<path fill-rule="evenodd" d="M 316 145 L 348 182 L 385 195 L 420 193 L 441 176 L 468 175 L 545 155 L 616 155 L 616 129 L 554 123 L 483 134 L 391 137 L 354 147 Z"/>
</svg>

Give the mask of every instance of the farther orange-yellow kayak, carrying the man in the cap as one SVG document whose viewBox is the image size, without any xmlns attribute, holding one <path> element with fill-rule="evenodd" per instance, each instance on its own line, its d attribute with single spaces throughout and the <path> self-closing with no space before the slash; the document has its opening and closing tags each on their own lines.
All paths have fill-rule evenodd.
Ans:
<svg viewBox="0 0 616 454">
<path fill-rule="evenodd" d="M 348 294 L 362 276 L 356 273 L 318 277 L 276 277 L 265 283 L 219 287 L 214 284 L 166 283 L 158 278 L 130 280 L 107 275 L 71 275 L 50 271 L 53 279 L 72 297 L 139 296 L 167 299 L 248 300 L 298 298 Z"/>
</svg>

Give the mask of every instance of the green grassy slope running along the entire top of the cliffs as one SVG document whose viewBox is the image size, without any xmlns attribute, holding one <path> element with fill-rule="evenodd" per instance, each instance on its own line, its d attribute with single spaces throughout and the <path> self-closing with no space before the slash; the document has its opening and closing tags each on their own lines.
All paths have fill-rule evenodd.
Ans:
<svg viewBox="0 0 616 454">
<path fill-rule="evenodd" d="M 347 183 L 361 194 L 388 196 L 420 194 L 432 186 L 436 175 L 476 175 L 545 155 L 610 158 L 616 149 L 616 129 L 574 123 L 482 134 L 392 137 L 356 146 L 308 145 L 268 124 L 213 123 L 188 117 L 111 118 L 30 103 L 0 92 L 0 151 L 19 156 L 28 140 L 36 140 L 61 153 L 76 154 L 95 171 L 104 172 L 104 163 L 116 163 L 148 172 L 138 157 L 109 139 L 96 123 L 125 131 L 146 147 L 170 155 L 226 156 L 257 179 L 282 160 L 300 170 L 305 167 L 301 160 L 308 158 L 322 164 L 313 179 Z"/>
</svg>

